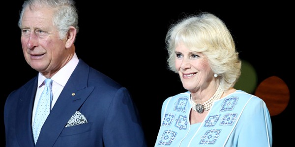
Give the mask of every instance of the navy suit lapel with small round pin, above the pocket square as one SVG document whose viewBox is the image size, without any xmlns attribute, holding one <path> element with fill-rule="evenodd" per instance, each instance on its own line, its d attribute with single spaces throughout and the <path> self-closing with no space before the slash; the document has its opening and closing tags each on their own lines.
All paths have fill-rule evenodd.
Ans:
<svg viewBox="0 0 295 147">
<path fill-rule="evenodd" d="M 88 87 L 89 66 L 81 60 L 42 126 L 36 147 L 52 147 L 71 116 L 79 110 L 94 87 Z"/>
</svg>

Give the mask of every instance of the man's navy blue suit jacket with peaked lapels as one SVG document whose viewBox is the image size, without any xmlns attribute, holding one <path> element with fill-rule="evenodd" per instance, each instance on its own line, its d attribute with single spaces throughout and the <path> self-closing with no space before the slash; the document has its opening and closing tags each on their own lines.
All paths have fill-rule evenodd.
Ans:
<svg viewBox="0 0 295 147">
<path fill-rule="evenodd" d="M 147 146 L 137 108 L 127 89 L 81 59 L 44 123 L 35 146 L 31 117 L 37 80 L 35 76 L 6 99 L 6 147 Z M 88 123 L 65 127 L 76 111 L 80 111 Z"/>
</svg>

